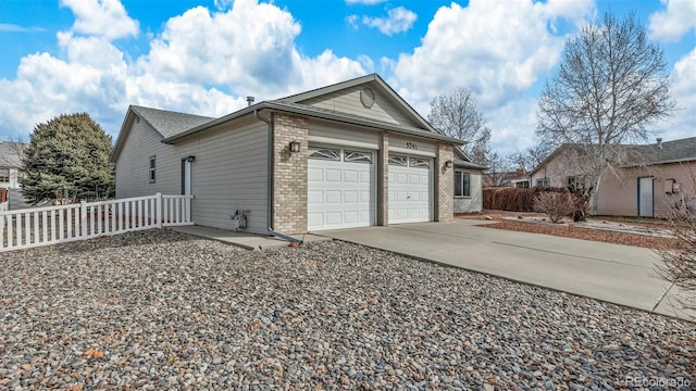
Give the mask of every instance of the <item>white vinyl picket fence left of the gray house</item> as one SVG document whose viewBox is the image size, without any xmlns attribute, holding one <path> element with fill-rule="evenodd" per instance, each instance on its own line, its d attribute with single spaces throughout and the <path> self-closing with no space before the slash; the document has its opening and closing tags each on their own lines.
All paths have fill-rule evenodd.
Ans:
<svg viewBox="0 0 696 391">
<path fill-rule="evenodd" d="M 154 195 L 0 212 L 0 252 L 194 225 L 192 195 Z"/>
</svg>

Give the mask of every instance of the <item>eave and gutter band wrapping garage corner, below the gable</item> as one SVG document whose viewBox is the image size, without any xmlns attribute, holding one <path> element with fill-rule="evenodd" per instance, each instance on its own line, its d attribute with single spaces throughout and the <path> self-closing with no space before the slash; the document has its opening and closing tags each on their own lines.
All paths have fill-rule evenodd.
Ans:
<svg viewBox="0 0 696 391">
<path fill-rule="evenodd" d="M 314 118 L 320 118 L 320 119 L 327 119 L 327 121 L 335 121 L 335 122 L 339 122 L 339 123 L 344 123 L 344 124 L 348 124 L 348 125 L 358 125 L 358 126 L 363 126 L 363 127 L 368 127 L 368 128 L 373 128 L 376 130 L 387 130 L 387 131 L 394 131 L 394 133 L 398 133 L 398 134 L 403 134 L 407 136 L 413 136 L 413 137 L 420 137 L 420 138 L 425 138 L 425 139 L 432 139 L 432 140 L 437 140 L 437 141 L 443 141 L 443 142 L 449 142 L 449 143 L 453 143 L 453 144 L 463 144 L 465 143 L 462 140 L 456 139 L 456 138 L 451 138 L 448 136 L 444 136 L 440 134 L 430 134 L 426 133 L 424 130 L 421 129 L 417 129 L 417 128 L 409 128 L 409 127 L 403 127 L 403 126 L 399 126 L 399 125 L 395 125 L 395 124 L 389 124 L 389 123 L 385 123 L 385 122 L 378 122 L 378 121 L 370 121 L 370 119 L 364 119 L 361 117 L 355 117 L 355 116 L 349 116 L 349 115 L 344 115 L 341 113 L 336 113 L 336 112 L 325 112 L 325 111 L 318 111 L 318 110 L 312 110 L 310 106 L 297 106 L 297 105 L 287 105 L 287 104 L 283 104 L 282 102 L 278 101 L 264 101 L 264 102 L 260 102 L 257 104 L 253 104 L 251 106 L 247 106 L 245 109 L 241 109 L 237 112 L 227 114 L 225 116 L 222 116 L 217 119 L 213 119 L 209 123 L 206 123 L 203 125 L 197 126 L 195 128 L 191 128 L 189 130 L 183 131 L 178 135 L 172 136 L 172 137 L 167 137 L 165 139 L 162 140 L 162 142 L 164 143 L 175 143 L 176 141 L 186 138 L 188 136 L 191 136 L 194 134 L 197 134 L 199 131 L 203 131 L 208 128 L 212 128 L 216 125 L 220 124 L 224 124 L 226 122 L 229 121 L 234 121 L 237 118 L 240 118 L 243 116 L 252 114 L 254 111 L 261 111 L 261 110 L 269 110 L 269 111 L 274 111 L 274 112 L 284 112 L 284 113 L 290 113 L 290 114 L 297 114 L 297 115 L 306 115 L 309 117 L 314 117 Z"/>
</svg>

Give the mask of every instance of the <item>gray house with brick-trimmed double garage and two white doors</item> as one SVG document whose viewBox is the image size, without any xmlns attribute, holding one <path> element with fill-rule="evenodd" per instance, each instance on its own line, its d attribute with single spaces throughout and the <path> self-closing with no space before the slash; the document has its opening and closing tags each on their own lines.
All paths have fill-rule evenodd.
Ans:
<svg viewBox="0 0 696 391">
<path fill-rule="evenodd" d="M 192 194 L 198 225 L 302 234 L 451 220 L 459 143 L 373 74 L 220 118 L 130 106 L 111 162 L 117 198 Z"/>
</svg>

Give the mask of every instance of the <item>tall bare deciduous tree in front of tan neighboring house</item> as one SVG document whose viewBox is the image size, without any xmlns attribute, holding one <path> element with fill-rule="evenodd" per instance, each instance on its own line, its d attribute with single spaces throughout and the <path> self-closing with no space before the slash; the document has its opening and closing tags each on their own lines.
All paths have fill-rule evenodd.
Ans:
<svg viewBox="0 0 696 391">
<path fill-rule="evenodd" d="M 634 14 L 619 21 L 607 13 L 601 26 L 586 26 L 566 43 L 558 74 L 542 93 L 537 135 L 584 148 L 592 212 L 600 176 L 621 163 L 621 144 L 646 140 L 673 112 L 669 87 L 662 50 L 648 42 Z"/>
</svg>

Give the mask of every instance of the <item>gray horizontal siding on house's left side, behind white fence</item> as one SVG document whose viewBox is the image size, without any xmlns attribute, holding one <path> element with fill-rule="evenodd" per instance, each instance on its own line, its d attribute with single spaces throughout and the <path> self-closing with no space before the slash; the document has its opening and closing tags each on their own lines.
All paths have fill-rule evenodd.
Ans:
<svg viewBox="0 0 696 391">
<path fill-rule="evenodd" d="M 268 234 L 268 131 L 263 123 L 225 124 L 177 144 L 164 144 L 152 128 L 133 124 L 116 162 L 116 197 L 182 193 L 182 160 L 191 164 L 191 219 L 232 228 L 235 210 L 250 211 L 246 231 Z M 149 159 L 157 156 L 157 178 L 149 182 Z"/>
</svg>

